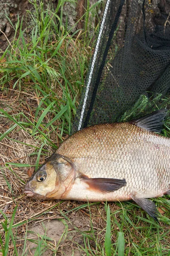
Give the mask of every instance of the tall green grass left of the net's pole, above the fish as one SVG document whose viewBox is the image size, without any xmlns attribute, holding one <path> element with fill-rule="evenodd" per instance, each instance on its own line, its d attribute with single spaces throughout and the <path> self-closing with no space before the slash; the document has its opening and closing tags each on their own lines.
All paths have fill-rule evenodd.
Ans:
<svg viewBox="0 0 170 256">
<path fill-rule="evenodd" d="M 11 83 L 12 89 L 20 92 L 29 90 L 30 93 L 35 93 L 40 101 L 34 109 L 33 121 L 24 113 L 8 116 L 8 113 L 1 112 L 22 129 L 27 127 L 28 131 L 29 127 L 31 135 L 40 136 L 41 133 L 41 139 L 45 142 L 50 142 L 51 132 L 58 128 L 57 136 L 62 140 L 63 134 L 69 134 L 71 131 L 71 121 L 76 113 L 77 99 L 82 91 L 92 48 L 88 49 L 86 32 L 84 41 L 80 41 L 76 37 L 79 31 L 71 34 L 71 31 L 67 31 L 62 25 L 62 12 L 60 16 L 57 12 L 63 8 L 64 1 L 58 3 L 55 11 L 44 11 L 43 4 L 37 6 L 36 1 L 33 1 L 33 4 L 35 12 L 30 15 L 35 27 L 29 41 L 24 37 L 26 31 L 22 30 L 23 20 L 20 24 L 18 17 L 16 26 L 11 24 L 15 35 L 11 47 L 9 46 L 0 58 L 1 61 L 6 61 L 0 67 L 0 83 L 2 90 L 6 92 L 6 85 Z M 95 6 L 92 6 L 91 10 Z M 85 27 L 87 30 L 88 22 Z M 25 119 L 25 122 L 20 121 L 21 119 Z"/>
</svg>

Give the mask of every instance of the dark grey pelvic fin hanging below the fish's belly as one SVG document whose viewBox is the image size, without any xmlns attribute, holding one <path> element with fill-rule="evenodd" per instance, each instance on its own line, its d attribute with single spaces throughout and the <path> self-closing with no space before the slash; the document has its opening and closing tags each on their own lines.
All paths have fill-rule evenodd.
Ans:
<svg viewBox="0 0 170 256">
<path fill-rule="evenodd" d="M 156 209 L 156 205 L 146 199 L 146 198 L 137 198 L 136 196 L 134 195 L 131 195 L 131 198 L 133 201 L 136 202 L 136 204 L 138 204 L 145 212 L 147 212 L 152 218 L 154 218 L 157 222 L 158 221 L 158 216 L 159 216 L 159 212 L 158 210 Z"/>
</svg>

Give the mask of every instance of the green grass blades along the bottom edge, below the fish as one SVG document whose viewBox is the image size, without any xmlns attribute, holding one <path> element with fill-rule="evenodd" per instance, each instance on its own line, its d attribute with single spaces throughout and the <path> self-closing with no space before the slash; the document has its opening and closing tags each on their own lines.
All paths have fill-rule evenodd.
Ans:
<svg viewBox="0 0 170 256">
<path fill-rule="evenodd" d="M 91 207 L 97 207 L 100 203 L 91 203 L 91 204 L 84 204 L 83 207 L 88 209 L 88 211 L 91 211 Z M 126 203 L 122 203 L 123 205 Z M 55 205 L 56 207 L 56 205 Z M 111 206 L 112 207 L 112 206 Z M 126 208 L 126 205 L 123 207 Z M 53 207 L 54 208 L 54 207 Z M 78 207 L 77 207 L 78 208 Z M 92 221 L 92 216 L 90 217 L 91 221 L 91 228 L 87 232 L 83 232 L 79 230 L 76 226 L 74 226 L 74 232 L 79 232 L 84 241 L 84 245 L 77 244 L 77 247 L 79 250 L 82 250 L 82 253 L 84 252 L 85 255 L 101 255 L 101 256 L 109 256 L 109 255 L 119 255 L 122 256 L 128 255 L 169 255 L 170 254 L 170 248 L 168 248 L 169 243 L 169 228 L 167 228 L 167 231 L 164 232 L 164 227 L 161 227 L 160 225 L 156 224 L 155 221 L 150 220 L 148 221 L 146 218 L 142 218 L 142 225 L 139 225 L 140 217 L 136 216 L 136 219 L 134 221 L 132 214 L 128 214 L 128 210 L 119 209 L 116 212 L 110 212 L 110 208 L 107 204 L 105 204 L 106 209 L 106 215 L 105 220 L 105 227 L 102 230 L 95 230 L 93 225 L 94 221 Z M 8 255 L 8 241 L 11 237 L 12 242 L 14 244 L 14 255 L 17 254 L 16 250 L 16 241 L 17 241 L 17 234 L 15 230 L 15 236 L 13 235 L 14 229 L 17 229 L 21 225 L 23 225 L 23 222 L 20 224 L 13 225 L 15 213 L 16 213 L 17 207 L 15 207 L 14 213 L 12 215 L 11 220 L 9 221 L 5 214 L 5 221 L 3 223 L 3 228 L 6 233 L 6 243 L 5 247 L 2 246 L 1 251 L 3 252 L 3 255 Z M 52 209 L 52 208 L 51 208 Z M 72 209 L 72 212 L 79 209 Z M 130 208 L 129 208 L 130 209 Z M 2 212 L 2 211 L 1 211 Z M 119 215 L 117 215 L 120 213 Z M 117 215 L 117 217 L 115 217 Z M 62 214 L 62 216 L 65 219 L 62 219 L 62 223 L 65 225 L 65 231 L 62 233 L 62 236 L 60 237 L 57 244 L 54 244 L 54 239 L 51 239 L 51 237 L 48 237 L 46 235 L 46 231 L 44 235 L 36 234 L 38 239 L 27 239 L 28 241 L 31 241 L 34 243 L 34 255 L 42 255 L 42 253 L 45 252 L 45 250 L 50 249 L 55 255 L 57 250 L 59 250 L 59 246 L 61 241 L 64 241 L 67 236 L 69 236 L 69 229 L 68 224 L 71 224 L 71 221 L 69 218 Z M 37 215 L 34 220 L 40 215 Z M 29 220 L 28 220 L 29 221 Z M 31 220 L 33 221 L 33 219 Z M 170 220 L 169 220 L 170 221 Z M 170 224 L 170 222 L 164 221 L 164 224 Z M 42 224 L 45 230 L 45 226 Z M 71 231 L 72 232 L 72 231 Z M 26 230 L 26 238 L 27 233 L 33 233 L 31 231 Z M 24 244 L 26 244 L 26 238 L 24 239 Z M 101 238 L 105 239 L 105 245 L 101 243 Z M 162 241 L 164 241 L 164 244 L 161 244 Z M 0 240 L 2 243 L 2 240 Z M 95 246 L 94 246 L 95 244 Z M 127 245 L 130 244 L 130 247 Z M 25 247 L 25 245 L 24 245 Z M 23 250 L 23 254 L 24 250 Z"/>
</svg>

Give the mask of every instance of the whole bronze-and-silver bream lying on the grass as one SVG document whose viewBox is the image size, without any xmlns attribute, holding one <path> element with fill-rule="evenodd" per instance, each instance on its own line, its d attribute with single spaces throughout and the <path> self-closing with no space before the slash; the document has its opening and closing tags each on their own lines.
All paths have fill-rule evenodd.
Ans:
<svg viewBox="0 0 170 256">
<path fill-rule="evenodd" d="M 98 124 L 68 137 L 29 178 L 34 199 L 133 200 L 158 221 L 148 198 L 170 195 L 170 138 L 158 133 L 166 110 L 130 122 Z"/>
</svg>

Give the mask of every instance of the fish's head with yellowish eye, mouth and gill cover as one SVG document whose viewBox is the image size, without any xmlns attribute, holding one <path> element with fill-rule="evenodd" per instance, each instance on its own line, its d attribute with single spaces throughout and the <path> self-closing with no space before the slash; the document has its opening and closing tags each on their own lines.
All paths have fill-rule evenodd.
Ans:
<svg viewBox="0 0 170 256">
<path fill-rule="evenodd" d="M 74 164 L 67 157 L 54 153 L 29 178 L 24 192 L 35 199 L 61 199 L 74 177 Z"/>
</svg>

